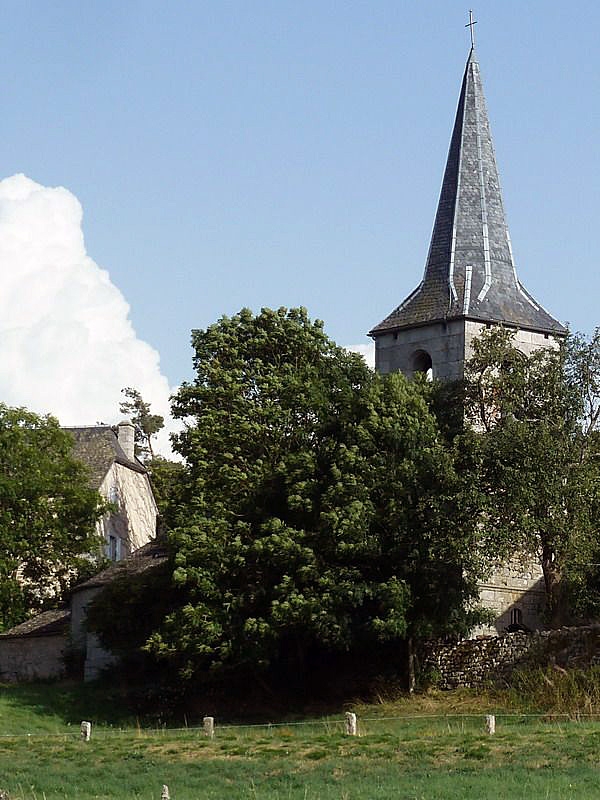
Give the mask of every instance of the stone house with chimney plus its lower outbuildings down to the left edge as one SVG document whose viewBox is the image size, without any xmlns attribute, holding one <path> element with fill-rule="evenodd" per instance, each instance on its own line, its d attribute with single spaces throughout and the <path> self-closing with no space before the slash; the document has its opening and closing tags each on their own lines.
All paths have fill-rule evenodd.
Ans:
<svg viewBox="0 0 600 800">
<path fill-rule="evenodd" d="M 98 533 L 106 557 L 116 563 L 78 586 L 71 608 L 45 611 L 0 635 L 0 681 L 60 677 L 67 652 L 83 660 L 87 679 L 96 677 L 112 656 L 85 630 L 88 604 L 110 580 L 158 563 L 158 509 L 148 470 L 135 457 L 132 423 L 65 430 L 76 457 L 90 470 L 91 485 L 113 507 L 99 520 Z"/>
</svg>

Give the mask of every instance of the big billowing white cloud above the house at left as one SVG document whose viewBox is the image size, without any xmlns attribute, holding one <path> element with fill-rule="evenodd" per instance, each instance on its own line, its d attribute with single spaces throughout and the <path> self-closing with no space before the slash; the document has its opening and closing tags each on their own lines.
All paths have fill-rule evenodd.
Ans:
<svg viewBox="0 0 600 800">
<path fill-rule="evenodd" d="M 159 355 L 87 255 L 81 219 L 67 189 L 25 175 L 0 181 L 0 400 L 63 425 L 114 423 L 121 389 L 133 386 L 171 427 Z M 158 446 L 168 454 L 166 431 Z"/>
</svg>

